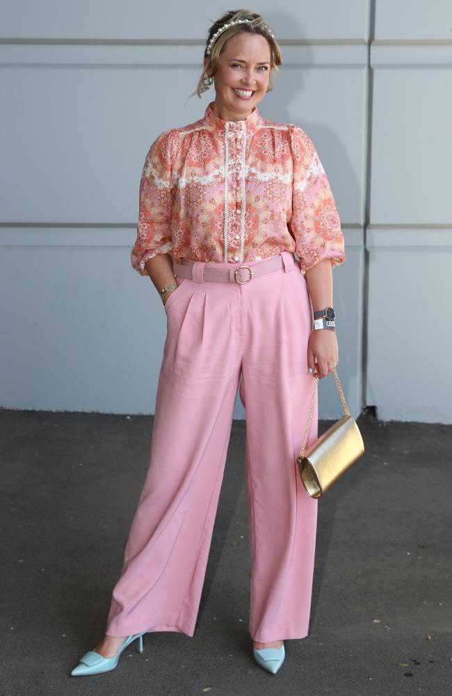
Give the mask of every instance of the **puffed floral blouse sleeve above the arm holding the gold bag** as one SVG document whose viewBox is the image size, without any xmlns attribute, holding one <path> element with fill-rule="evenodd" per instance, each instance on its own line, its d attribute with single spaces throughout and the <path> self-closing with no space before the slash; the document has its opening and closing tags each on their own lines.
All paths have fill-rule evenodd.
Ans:
<svg viewBox="0 0 452 696">
<path fill-rule="evenodd" d="M 344 234 L 325 170 L 314 143 L 290 124 L 293 159 L 292 214 L 288 228 L 296 241 L 300 271 L 304 274 L 329 258 L 337 266 L 346 260 Z"/>
</svg>

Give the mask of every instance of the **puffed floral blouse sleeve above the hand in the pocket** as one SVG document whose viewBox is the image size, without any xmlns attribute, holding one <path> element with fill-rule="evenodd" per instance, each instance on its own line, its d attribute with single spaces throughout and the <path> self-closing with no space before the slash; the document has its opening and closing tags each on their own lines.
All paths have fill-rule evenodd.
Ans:
<svg viewBox="0 0 452 696">
<path fill-rule="evenodd" d="M 161 133 L 150 146 L 140 180 L 136 242 L 131 250 L 132 267 L 147 276 L 145 263 L 159 253 L 170 253 L 172 234 L 172 143 L 173 129 Z"/>
</svg>

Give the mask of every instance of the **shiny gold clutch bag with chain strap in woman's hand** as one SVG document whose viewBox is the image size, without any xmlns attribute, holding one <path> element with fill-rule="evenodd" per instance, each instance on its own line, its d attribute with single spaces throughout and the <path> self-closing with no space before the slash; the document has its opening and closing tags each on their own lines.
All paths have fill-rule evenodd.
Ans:
<svg viewBox="0 0 452 696">
<path fill-rule="evenodd" d="M 360 429 L 350 416 L 344 392 L 333 367 L 345 416 L 342 416 L 305 451 L 309 428 L 311 427 L 314 399 L 318 388 L 318 375 L 315 376 L 314 390 L 307 416 L 305 434 L 302 439 L 300 455 L 297 457 L 298 470 L 307 493 L 312 498 L 320 498 L 325 491 L 344 473 L 364 452 Z"/>
</svg>

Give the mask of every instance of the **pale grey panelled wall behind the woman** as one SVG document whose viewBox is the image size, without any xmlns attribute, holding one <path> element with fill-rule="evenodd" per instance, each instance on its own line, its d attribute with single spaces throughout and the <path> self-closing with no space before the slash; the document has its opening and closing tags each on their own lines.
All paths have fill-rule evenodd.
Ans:
<svg viewBox="0 0 452 696">
<path fill-rule="evenodd" d="M 139 178 L 155 137 L 213 99 L 188 96 L 227 9 L 158 8 L 0 10 L 2 406 L 154 413 L 166 316 L 129 261 Z M 334 307 L 350 412 L 452 422 L 450 3 L 253 9 L 284 60 L 259 111 L 312 137 L 343 223 Z M 332 377 L 319 395 L 321 418 L 341 416 Z"/>
</svg>

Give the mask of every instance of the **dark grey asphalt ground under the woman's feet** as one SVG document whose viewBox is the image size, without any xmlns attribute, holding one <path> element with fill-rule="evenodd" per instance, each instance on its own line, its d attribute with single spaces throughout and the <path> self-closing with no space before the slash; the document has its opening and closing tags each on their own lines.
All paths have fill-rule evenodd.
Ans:
<svg viewBox="0 0 452 696">
<path fill-rule="evenodd" d="M 245 422 L 234 421 L 193 638 L 102 637 L 145 477 L 150 416 L 0 411 L 1 696 L 452 694 L 452 426 L 358 419 L 366 452 L 318 502 L 310 633 L 268 674 L 248 633 Z M 319 434 L 330 422 L 319 423 Z"/>
</svg>

